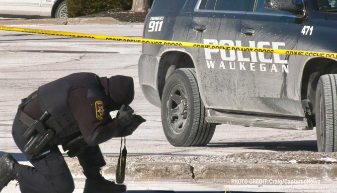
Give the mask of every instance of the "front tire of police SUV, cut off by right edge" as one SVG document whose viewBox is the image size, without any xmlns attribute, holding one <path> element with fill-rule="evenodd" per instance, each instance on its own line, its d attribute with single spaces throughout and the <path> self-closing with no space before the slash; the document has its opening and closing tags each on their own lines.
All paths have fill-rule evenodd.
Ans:
<svg viewBox="0 0 337 193">
<path fill-rule="evenodd" d="M 318 81 L 316 133 L 319 152 L 337 151 L 337 74 L 323 75 Z"/>
</svg>

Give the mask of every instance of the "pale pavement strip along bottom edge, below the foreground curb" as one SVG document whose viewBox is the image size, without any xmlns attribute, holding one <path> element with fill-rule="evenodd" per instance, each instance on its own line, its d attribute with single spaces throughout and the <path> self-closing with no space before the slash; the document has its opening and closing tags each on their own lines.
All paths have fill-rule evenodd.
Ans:
<svg viewBox="0 0 337 193">
<path fill-rule="evenodd" d="M 74 193 L 83 193 L 84 180 L 74 179 Z M 20 193 L 19 187 L 15 188 L 16 181 L 12 181 L 8 187 L 3 189 L 5 193 Z M 126 182 L 127 191 L 147 191 L 146 193 L 164 193 L 163 191 L 190 191 L 218 193 L 336 193 L 337 185 L 333 183 L 322 183 L 319 185 L 222 185 L 216 182 L 193 182 L 193 181 L 171 181 L 171 182 L 153 182 L 153 181 L 132 181 Z M 229 190 L 229 191 L 228 191 Z M 148 192 L 149 191 L 149 192 Z M 151 192 L 150 192 L 151 191 Z M 249 192 L 250 191 L 250 192 Z M 144 192 L 143 192 L 144 193 Z M 192 193 L 192 192 L 190 192 Z"/>
</svg>

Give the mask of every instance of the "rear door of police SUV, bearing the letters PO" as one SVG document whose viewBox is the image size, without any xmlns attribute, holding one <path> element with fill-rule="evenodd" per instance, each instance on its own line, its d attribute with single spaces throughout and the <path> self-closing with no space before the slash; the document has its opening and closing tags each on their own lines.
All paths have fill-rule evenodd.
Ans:
<svg viewBox="0 0 337 193">
<path fill-rule="evenodd" d="M 250 0 L 199 0 L 192 22 L 196 41 L 235 46 L 249 5 Z M 234 50 L 200 48 L 197 52 L 198 84 L 207 108 L 242 109 L 237 98 L 238 57 Z"/>
</svg>

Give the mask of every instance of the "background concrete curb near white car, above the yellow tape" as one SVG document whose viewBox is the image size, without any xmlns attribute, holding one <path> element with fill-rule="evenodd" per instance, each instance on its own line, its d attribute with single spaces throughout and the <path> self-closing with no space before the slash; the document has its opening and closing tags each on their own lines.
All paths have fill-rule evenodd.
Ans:
<svg viewBox="0 0 337 193">
<path fill-rule="evenodd" d="M 68 19 L 8 19 L 0 20 L 2 26 L 12 25 L 114 25 L 121 24 L 120 21 L 111 17 L 93 17 L 93 18 L 68 18 Z"/>
</svg>

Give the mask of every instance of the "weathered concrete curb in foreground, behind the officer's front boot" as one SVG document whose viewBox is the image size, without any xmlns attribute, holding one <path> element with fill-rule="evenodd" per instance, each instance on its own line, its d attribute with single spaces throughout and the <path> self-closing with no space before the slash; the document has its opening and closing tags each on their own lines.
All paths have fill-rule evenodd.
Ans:
<svg viewBox="0 0 337 193">
<path fill-rule="evenodd" d="M 77 159 L 66 159 L 74 177 L 84 177 Z M 116 163 L 102 168 L 115 179 Z M 337 181 L 337 165 L 314 164 L 186 164 L 127 163 L 126 180 L 209 180 L 231 183 L 232 179 Z"/>
</svg>

